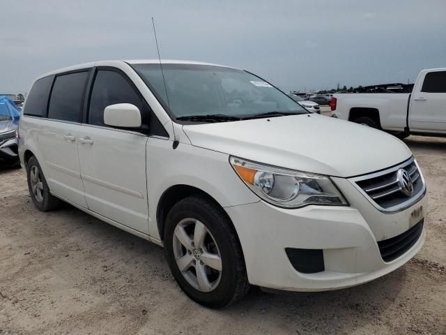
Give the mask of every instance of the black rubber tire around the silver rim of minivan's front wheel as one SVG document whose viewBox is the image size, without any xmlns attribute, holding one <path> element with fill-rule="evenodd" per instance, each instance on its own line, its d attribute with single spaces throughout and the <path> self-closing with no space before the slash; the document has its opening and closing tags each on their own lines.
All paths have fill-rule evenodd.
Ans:
<svg viewBox="0 0 446 335">
<path fill-rule="evenodd" d="M 194 288 L 178 268 L 174 252 L 174 232 L 178 223 L 184 221 L 185 218 L 200 221 L 210 232 L 210 237 L 215 240 L 220 252 L 222 264 L 220 280 L 210 292 L 201 292 Z M 166 218 L 164 246 L 167 262 L 176 282 L 186 295 L 199 304 L 210 308 L 223 308 L 241 299 L 248 292 L 249 283 L 243 253 L 233 225 L 222 209 L 207 198 L 191 196 L 180 200 L 171 208 Z M 193 262 L 195 264 L 195 260 Z M 197 262 L 201 263 L 201 261 Z"/>
</svg>

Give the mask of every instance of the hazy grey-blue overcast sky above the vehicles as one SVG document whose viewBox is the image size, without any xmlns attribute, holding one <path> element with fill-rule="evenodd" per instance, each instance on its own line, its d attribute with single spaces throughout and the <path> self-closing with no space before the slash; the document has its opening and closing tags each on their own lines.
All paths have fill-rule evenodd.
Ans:
<svg viewBox="0 0 446 335">
<path fill-rule="evenodd" d="M 284 90 L 414 82 L 446 67 L 446 0 L 0 0 L 0 94 L 103 59 L 243 68 Z"/>
</svg>

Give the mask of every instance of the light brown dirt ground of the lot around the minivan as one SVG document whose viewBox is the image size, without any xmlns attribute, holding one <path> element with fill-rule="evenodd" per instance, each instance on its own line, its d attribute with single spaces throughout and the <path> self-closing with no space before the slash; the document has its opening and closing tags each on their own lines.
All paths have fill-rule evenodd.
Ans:
<svg viewBox="0 0 446 335">
<path fill-rule="evenodd" d="M 252 290 L 222 311 L 187 299 L 162 248 L 69 205 L 40 213 L 0 168 L 0 334 L 446 334 L 446 139 L 409 137 L 429 187 L 426 244 L 371 283 Z"/>
</svg>

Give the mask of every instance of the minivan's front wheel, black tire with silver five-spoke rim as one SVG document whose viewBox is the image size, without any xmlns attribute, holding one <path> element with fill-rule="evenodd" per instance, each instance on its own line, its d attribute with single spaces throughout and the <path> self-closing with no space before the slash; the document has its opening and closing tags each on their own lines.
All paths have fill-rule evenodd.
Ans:
<svg viewBox="0 0 446 335">
<path fill-rule="evenodd" d="M 167 214 L 164 246 L 178 285 L 199 304 L 222 308 L 247 293 L 236 233 L 210 200 L 191 196 L 177 202 Z"/>
</svg>

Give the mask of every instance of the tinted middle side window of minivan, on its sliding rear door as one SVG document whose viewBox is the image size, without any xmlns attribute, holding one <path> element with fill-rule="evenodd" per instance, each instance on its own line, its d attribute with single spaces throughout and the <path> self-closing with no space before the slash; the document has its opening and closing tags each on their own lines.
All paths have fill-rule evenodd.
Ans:
<svg viewBox="0 0 446 335">
<path fill-rule="evenodd" d="M 49 98 L 48 118 L 80 121 L 88 71 L 58 75 Z"/>
</svg>

